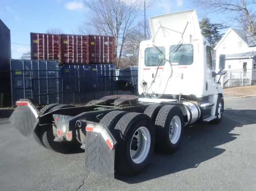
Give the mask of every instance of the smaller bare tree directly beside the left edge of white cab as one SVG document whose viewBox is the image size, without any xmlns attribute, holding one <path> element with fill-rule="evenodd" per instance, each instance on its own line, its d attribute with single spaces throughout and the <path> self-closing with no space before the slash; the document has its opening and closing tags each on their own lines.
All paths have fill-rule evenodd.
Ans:
<svg viewBox="0 0 256 191">
<path fill-rule="evenodd" d="M 146 22 L 146 40 L 151 38 L 149 23 Z M 133 32 L 131 32 L 124 43 L 123 47 L 123 65 L 138 65 L 140 42 L 144 40 L 144 22 L 138 23 Z"/>
</svg>

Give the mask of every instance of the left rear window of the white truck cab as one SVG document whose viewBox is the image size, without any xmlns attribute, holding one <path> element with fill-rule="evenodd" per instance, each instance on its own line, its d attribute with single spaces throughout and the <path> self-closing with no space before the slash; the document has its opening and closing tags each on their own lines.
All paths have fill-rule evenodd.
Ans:
<svg viewBox="0 0 256 191">
<path fill-rule="evenodd" d="M 157 46 L 159 51 L 165 55 L 165 47 Z M 145 49 L 145 66 L 158 66 L 159 62 L 162 60 L 159 53 L 155 50 L 154 47 L 149 47 Z M 165 62 L 161 62 L 160 66 L 162 66 Z"/>
</svg>

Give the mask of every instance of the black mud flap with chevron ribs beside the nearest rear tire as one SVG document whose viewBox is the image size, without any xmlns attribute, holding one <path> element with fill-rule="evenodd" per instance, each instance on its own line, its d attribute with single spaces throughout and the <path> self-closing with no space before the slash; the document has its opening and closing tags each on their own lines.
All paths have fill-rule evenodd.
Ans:
<svg viewBox="0 0 256 191">
<path fill-rule="evenodd" d="M 85 165 L 91 173 L 115 178 L 115 148 L 110 149 L 100 133 L 87 132 Z"/>
</svg>

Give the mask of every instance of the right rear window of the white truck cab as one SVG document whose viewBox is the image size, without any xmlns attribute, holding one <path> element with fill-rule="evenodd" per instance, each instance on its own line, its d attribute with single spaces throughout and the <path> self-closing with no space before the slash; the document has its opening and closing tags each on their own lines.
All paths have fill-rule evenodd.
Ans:
<svg viewBox="0 0 256 191">
<path fill-rule="evenodd" d="M 175 45 L 170 46 L 170 52 L 174 47 Z M 191 65 L 193 63 L 193 51 L 192 44 L 177 45 L 170 53 L 169 60 L 171 63 L 177 63 L 177 65 Z"/>
</svg>

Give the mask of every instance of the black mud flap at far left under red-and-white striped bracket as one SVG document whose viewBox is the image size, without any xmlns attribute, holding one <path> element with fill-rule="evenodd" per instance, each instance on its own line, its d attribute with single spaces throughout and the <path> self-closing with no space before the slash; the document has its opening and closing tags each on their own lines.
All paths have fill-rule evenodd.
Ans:
<svg viewBox="0 0 256 191">
<path fill-rule="evenodd" d="M 24 105 L 18 105 L 9 119 L 24 137 L 30 137 L 38 123 L 35 114 L 28 106 Z"/>
</svg>

